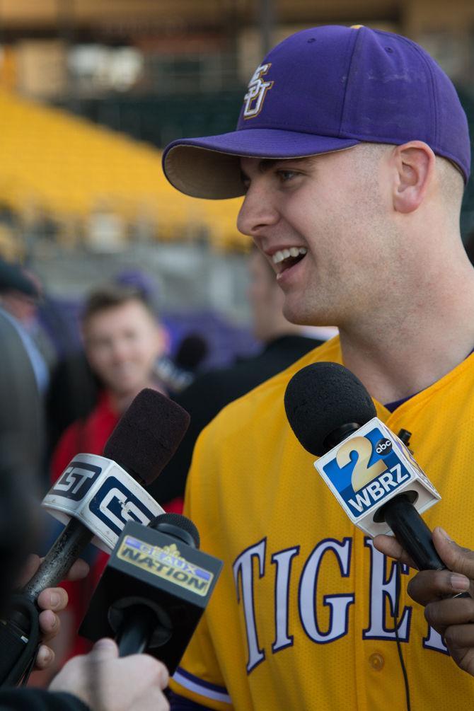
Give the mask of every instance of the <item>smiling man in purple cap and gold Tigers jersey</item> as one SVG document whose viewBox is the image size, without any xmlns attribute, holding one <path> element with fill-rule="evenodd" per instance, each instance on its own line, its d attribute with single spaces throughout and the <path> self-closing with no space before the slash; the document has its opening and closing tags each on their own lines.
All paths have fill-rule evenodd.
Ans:
<svg viewBox="0 0 474 711">
<path fill-rule="evenodd" d="M 412 433 L 443 496 L 428 525 L 472 547 L 470 141 L 453 85 L 406 38 L 305 30 L 257 68 L 235 132 L 175 141 L 163 166 L 190 195 L 244 195 L 239 230 L 273 265 L 285 316 L 340 329 L 198 440 L 187 513 L 225 567 L 174 708 L 402 711 L 411 695 L 414 708 L 465 709 L 474 679 L 409 599 L 412 571 L 354 528 L 284 414 L 293 373 L 344 363 L 378 417 Z M 458 602 L 474 619 L 474 601 Z"/>
</svg>

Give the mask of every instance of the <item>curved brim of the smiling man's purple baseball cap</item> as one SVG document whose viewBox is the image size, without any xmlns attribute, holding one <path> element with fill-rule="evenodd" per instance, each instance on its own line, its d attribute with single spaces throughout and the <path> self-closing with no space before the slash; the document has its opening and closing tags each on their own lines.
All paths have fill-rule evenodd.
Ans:
<svg viewBox="0 0 474 711">
<path fill-rule="evenodd" d="M 244 129 L 220 136 L 173 141 L 163 153 L 171 185 L 193 198 L 222 200 L 244 195 L 239 158 L 287 159 L 333 153 L 355 146 L 340 139 L 281 129 Z"/>
</svg>

